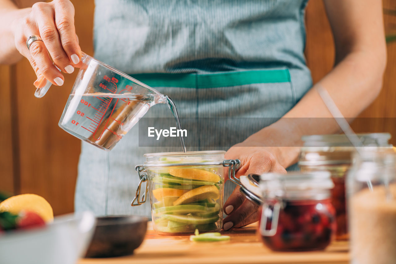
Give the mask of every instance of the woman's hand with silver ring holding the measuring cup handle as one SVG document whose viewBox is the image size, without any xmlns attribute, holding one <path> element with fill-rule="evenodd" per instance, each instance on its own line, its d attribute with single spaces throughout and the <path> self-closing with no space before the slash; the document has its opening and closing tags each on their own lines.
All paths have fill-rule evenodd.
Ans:
<svg viewBox="0 0 396 264">
<path fill-rule="evenodd" d="M 65 73 L 72 73 L 80 61 L 81 48 L 74 28 L 73 4 L 69 0 L 37 2 L 26 10 L 24 16 L 13 21 L 12 29 L 15 47 L 29 60 L 37 78 L 63 85 L 65 78 L 52 64 L 51 58 Z M 43 41 L 32 42 L 28 50 L 26 40 L 33 35 L 40 36 Z"/>
</svg>

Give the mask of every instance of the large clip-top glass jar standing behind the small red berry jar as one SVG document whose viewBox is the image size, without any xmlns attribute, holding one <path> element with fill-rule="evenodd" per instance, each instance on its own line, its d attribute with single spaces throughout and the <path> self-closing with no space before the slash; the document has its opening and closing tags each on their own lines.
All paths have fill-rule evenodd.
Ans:
<svg viewBox="0 0 396 264">
<path fill-rule="evenodd" d="M 392 147 L 388 133 L 358 134 L 365 146 Z M 345 175 L 352 164 L 354 147 L 345 134 L 303 136 L 304 146 L 299 156 L 302 172 L 325 170 L 331 173 L 335 187 L 331 202 L 336 211 L 336 239 L 348 239 L 348 224 L 345 198 Z"/>
</svg>

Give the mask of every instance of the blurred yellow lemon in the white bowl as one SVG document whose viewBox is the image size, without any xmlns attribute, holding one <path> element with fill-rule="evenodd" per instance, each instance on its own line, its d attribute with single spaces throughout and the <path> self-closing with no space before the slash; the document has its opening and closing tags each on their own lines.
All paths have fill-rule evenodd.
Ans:
<svg viewBox="0 0 396 264">
<path fill-rule="evenodd" d="M 40 195 L 30 193 L 15 195 L 0 203 L 0 212 L 19 214 L 24 210 L 35 212 L 46 222 L 53 220 L 51 205 Z"/>
</svg>

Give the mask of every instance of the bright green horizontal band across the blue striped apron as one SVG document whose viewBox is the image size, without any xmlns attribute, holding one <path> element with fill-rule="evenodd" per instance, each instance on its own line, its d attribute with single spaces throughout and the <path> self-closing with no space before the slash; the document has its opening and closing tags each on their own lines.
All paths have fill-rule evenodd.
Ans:
<svg viewBox="0 0 396 264">
<path fill-rule="evenodd" d="M 151 87 L 217 88 L 254 83 L 290 82 L 288 69 L 230 73 L 144 73 L 131 77 Z"/>
</svg>

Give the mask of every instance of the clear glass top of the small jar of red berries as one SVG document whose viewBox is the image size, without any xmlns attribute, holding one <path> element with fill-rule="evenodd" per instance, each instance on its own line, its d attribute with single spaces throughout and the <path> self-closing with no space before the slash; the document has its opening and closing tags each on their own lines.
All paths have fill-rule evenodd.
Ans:
<svg viewBox="0 0 396 264">
<path fill-rule="evenodd" d="M 334 187 L 328 171 L 267 173 L 261 175 L 260 187 L 263 197 L 323 198 Z"/>
</svg>

